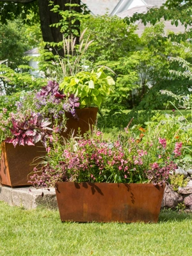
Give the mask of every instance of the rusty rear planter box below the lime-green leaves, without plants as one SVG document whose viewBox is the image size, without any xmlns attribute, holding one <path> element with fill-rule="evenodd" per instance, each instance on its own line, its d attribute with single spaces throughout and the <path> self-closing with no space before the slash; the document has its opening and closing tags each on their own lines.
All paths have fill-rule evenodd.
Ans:
<svg viewBox="0 0 192 256">
<path fill-rule="evenodd" d="M 68 118 L 66 125 L 67 131 L 62 132 L 61 135 L 67 138 L 68 135 L 74 132 L 74 136 L 76 136 L 79 128 L 81 129 L 81 135 L 83 135 L 85 132 L 89 131 L 89 129 L 92 129 L 93 125 L 95 124 L 97 111 L 98 108 L 76 109 L 76 113 L 79 118 L 78 120 L 77 118 L 74 118 L 71 113 L 65 113 L 66 117 Z"/>
</svg>

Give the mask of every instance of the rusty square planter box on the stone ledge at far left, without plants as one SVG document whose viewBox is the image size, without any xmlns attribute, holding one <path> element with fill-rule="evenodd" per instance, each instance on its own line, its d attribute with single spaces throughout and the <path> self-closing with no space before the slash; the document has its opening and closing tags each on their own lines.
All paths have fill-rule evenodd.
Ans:
<svg viewBox="0 0 192 256">
<path fill-rule="evenodd" d="M 2 185 L 16 187 L 29 186 L 28 175 L 35 165 L 30 166 L 35 157 L 45 155 L 45 148 L 38 142 L 35 146 L 19 146 L 1 144 L 1 170 L 0 182 Z M 35 161 L 38 163 L 38 161 Z"/>
</svg>

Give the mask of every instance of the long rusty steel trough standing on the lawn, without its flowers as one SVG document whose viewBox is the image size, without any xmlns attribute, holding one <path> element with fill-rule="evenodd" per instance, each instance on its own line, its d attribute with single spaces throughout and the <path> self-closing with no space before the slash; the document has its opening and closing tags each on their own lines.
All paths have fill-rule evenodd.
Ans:
<svg viewBox="0 0 192 256">
<path fill-rule="evenodd" d="M 56 182 L 61 221 L 156 223 L 164 185 Z"/>
</svg>

